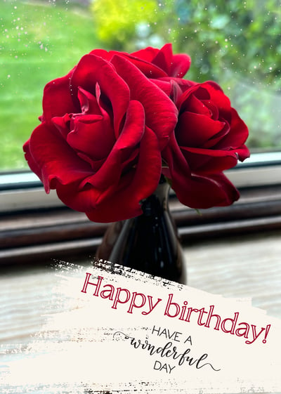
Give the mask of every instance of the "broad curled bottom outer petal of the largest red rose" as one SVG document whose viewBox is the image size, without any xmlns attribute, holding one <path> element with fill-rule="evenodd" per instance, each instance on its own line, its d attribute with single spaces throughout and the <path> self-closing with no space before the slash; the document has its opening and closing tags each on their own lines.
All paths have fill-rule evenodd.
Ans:
<svg viewBox="0 0 281 394">
<path fill-rule="evenodd" d="M 155 133 L 145 128 L 136 168 L 119 180 L 119 185 L 100 191 L 87 184 L 83 190 L 58 185 L 58 196 L 91 221 L 107 223 L 142 214 L 140 201 L 154 192 L 161 174 L 161 155 Z"/>
</svg>

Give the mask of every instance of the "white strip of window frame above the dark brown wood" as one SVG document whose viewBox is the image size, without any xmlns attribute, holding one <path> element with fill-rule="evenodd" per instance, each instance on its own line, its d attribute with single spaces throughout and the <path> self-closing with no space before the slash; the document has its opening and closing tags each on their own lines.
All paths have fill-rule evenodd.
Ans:
<svg viewBox="0 0 281 394">
<path fill-rule="evenodd" d="M 238 189 L 281 184 L 281 151 L 253 153 L 225 173 Z M 46 195 L 41 180 L 31 171 L 0 173 L 0 214 L 62 206 L 55 191 Z"/>
</svg>

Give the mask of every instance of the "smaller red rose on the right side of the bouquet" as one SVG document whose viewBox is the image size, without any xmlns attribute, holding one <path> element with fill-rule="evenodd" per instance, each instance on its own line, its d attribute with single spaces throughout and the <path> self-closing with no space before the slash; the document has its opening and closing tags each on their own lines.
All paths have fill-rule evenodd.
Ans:
<svg viewBox="0 0 281 394">
<path fill-rule="evenodd" d="M 226 206 L 239 198 L 223 171 L 249 157 L 247 126 L 212 81 L 174 84 L 178 124 L 162 152 L 178 199 L 191 208 Z"/>
</svg>

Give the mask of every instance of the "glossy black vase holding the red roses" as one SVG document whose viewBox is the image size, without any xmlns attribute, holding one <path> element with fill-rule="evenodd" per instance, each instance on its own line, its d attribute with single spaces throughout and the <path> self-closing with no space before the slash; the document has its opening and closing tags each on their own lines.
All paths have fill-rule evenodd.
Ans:
<svg viewBox="0 0 281 394">
<path fill-rule="evenodd" d="M 169 188 L 162 176 L 155 192 L 143 200 L 141 216 L 107 228 L 96 257 L 185 283 L 183 251 L 169 212 Z"/>
</svg>

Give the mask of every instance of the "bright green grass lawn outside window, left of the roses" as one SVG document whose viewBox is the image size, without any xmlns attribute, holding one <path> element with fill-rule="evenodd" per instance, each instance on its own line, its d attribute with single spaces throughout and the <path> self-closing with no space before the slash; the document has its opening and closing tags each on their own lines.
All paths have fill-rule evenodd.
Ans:
<svg viewBox="0 0 281 394">
<path fill-rule="evenodd" d="M 96 47 L 91 14 L 65 3 L 1 1 L 0 170 L 25 169 L 44 86 Z"/>
</svg>

